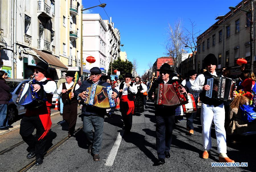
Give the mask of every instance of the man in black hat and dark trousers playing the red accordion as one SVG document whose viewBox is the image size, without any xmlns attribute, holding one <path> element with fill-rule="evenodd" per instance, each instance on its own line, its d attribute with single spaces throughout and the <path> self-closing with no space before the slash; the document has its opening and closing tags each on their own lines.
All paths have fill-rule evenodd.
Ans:
<svg viewBox="0 0 256 172">
<path fill-rule="evenodd" d="M 155 90 L 160 83 L 172 84 L 177 81 L 172 79 L 174 74 L 171 70 L 171 66 L 168 63 L 164 63 L 159 71 L 160 77 L 155 80 L 148 92 L 148 97 L 155 100 Z M 187 93 L 186 89 L 183 87 L 181 93 Z M 170 97 L 171 98 L 171 97 Z M 158 165 L 165 163 L 165 158 L 170 158 L 169 153 L 172 141 L 172 132 L 175 125 L 175 109 L 176 107 L 168 107 L 162 105 L 155 105 L 155 120 L 156 120 L 156 146 L 157 146 L 157 156 Z"/>
</svg>

